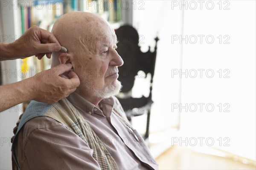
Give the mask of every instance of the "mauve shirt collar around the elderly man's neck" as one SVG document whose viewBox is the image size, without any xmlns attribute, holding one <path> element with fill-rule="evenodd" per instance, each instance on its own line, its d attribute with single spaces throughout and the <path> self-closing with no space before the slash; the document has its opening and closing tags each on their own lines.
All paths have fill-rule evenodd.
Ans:
<svg viewBox="0 0 256 170">
<path fill-rule="evenodd" d="M 72 103 L 82 113 L 90 114 L 90 115 L 97 114 L 104 117 L 111 116 L 111 113 L 113 110 L 113 104 L 114 104 L 114 100 L 112 97 L 102 99 L 102 101 L 99 102 L 99 106 L 102 109 L 101 110 L 76 92 L 73 92 L 72 94 L 70 94 L 67 97 L 67 100 L 69 100 L 70 103 Z"/>
</svg>

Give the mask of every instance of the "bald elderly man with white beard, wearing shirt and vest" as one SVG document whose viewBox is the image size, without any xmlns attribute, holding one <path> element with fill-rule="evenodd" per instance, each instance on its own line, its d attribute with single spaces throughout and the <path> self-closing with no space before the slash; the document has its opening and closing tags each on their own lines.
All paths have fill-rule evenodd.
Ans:
<svg viewBox="0 0 256 170">
<path fill-rule="evenodd" d="M 29 104 L 12 146 L 20 169 L 157 169 L 113 97 L 123 64 L 114 30 L 96 14 L 73 12 L 52 33 L 67 48 L 53 54 L 52 66 L 71 63 L 81 84 L 57 104 Z"/>
</svg>

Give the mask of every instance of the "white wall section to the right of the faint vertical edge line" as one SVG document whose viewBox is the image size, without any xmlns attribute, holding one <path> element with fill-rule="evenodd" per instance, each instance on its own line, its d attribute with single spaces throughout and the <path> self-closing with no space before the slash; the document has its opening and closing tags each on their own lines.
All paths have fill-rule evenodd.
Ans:
<svg viewBox="0 0 256 170">
<path fill-rule="evenodd" d="M 205 1 L 207 2 L 207 1 Z M 185 104 L 204 103 L 202 112 L 198 106 L 195 112 L 192 107 L 181 112 L 181 130 L 183 137 L 198 138 L 211 137 L 213 147 L 226 150 L 240 156 L 255 160 L 256 156 L 256 110 L 255 110 L 255 22 L 256 1 L 229 0 L 212 1 L 214 8 L 209 10 L 206 3 L 203 9 L 184 12 L 184 35 L 204 35 L 202 43 L 193 44 L 194 39 L 183 43 L 183 67 L 186 69 L 212 69 L 214 76 L 207 78 L 206 71 L 200 78 L 199 71 L 196 78 L 194 71 L 188 78 L 182 75 L 182 102 Z M 191 4 L 192 5 L 192 4 Z M 224 10 L 227 6 L 229 10 Z M 193 8 L 193 6 L 192 6 Z M 210 4 L 209 4 L 209 8 Z M 213 43 L 206 42 L 206 36 L 215 38 Z M 220 44 L 218 36 L 221 35 Z M 227 40 L 228 44 L 224 43 Z M 209 38 L 210 41 L 210 38 Z M 175 41 L 179 43 L 178 41 Z M 218 70 L 222 70 L 219 78 Z M 227 69 L 224 72 L 224 69 Z M 208 72 L 210 76 L 211 72 Z M 230 78 L 224 78 L 225 74 Z M 218 104 L 222 104 L 221 111 Z M 226 106 L 223 106 L 227 103 Z M 206 109 L 206 104 L 215 108 L 212 112 Z M 230 106 L 227 111 L 224 109 Z M 220 137 L 222 143 L 220 144 Z M 227 137 L 225 140 L 224 138 Z M 199 140 L 198 140 L 199 142 Z M 224 146 L 227 142 L 230 146 Z M 194 141 L 193 143 L 194 144 Z M 211 141 L 204 146 L 210 145 Z M 185 145 L 183 143 L 182 145 Z M 221 146 L 220 146 L 221 145 Z"/>
</svg>

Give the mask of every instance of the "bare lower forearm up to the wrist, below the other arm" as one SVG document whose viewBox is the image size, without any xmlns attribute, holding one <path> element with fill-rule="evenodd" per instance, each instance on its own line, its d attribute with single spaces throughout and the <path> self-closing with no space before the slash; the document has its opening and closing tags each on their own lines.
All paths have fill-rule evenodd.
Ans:
<svg viewBox="0 0 256 170">
<path fill-rule="evenodd" d="M 0 86 L 0 112 L 17 104 L 33 99 L 33 81 L 31 78 L 13 84 Z"/>
</svg>

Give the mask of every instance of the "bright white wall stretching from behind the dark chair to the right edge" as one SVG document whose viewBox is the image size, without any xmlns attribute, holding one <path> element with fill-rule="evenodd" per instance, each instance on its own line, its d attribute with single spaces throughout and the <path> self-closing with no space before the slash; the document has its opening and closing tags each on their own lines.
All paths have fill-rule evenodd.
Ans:
<svg viewBox="0 0 256 170">
<path fill-rule="evenodd" d="M 135 2 L 138 5 L 140 1 Z M 187 9 L 182 4 L 187 4 Z M 210 145 L 213 139 L 212 147 L 255 160 L 255 1 L 201 1 L 200 4 L 198 1 L 159 0 L 144 1 L 143 8 L 134 10 L 134 26 L 139 35 L 145 37 L 144 44 L 140 44 L 142 50 L 154 46 L 153 39 L 157 32 L 160 38 L 153 86 L 151 133 L 164 131 L 175 122 L 177 124 L 176 115 L 180 106 L 185 106 L 181 109 L 181 131 L 176 143 L 192 147 L 193 140 L 190 144 L 180 143 L 180 140 L 196 138 L 196 146 L 200 147 L 198 138 L 202 138 L 203 146 Z M 185 38 L 181 42 L 180 36 Z M 194 37 L 197 37 L 196 43 Z M 212 43 L 211 37 L 214 37 Z M 202 78 L 200 69 L 204 69 Z M 187 78 L 185 74 L 179 75 L 180 71 L 186 70 Z M 192 78 L 195 70 L 197 76 Z M 208 78 L 212 71 L 214 76 Z M 218 71 L 221 71 L 221 78 Z M 224 78 L 228 76 L 230 78 Z M 143 93 L 139 88 L 137 92 Z M 204 104 L 202 112 L 198 103 Z M 194 104 L 198 107 L 195 112 Z M 214 110 L 209 112 L 212 105 Z M 224 112 L 224 109 L 230 112 Z M 143 117 L 136 118 L 134 126 L 139 127 L 137 124 L 142 124 L 144 120 Z M 158 137 L 159 141 L 166 138 L 163 135 Z M 207 138 L 209 141 L 206 144 Z"/>
</svg>

